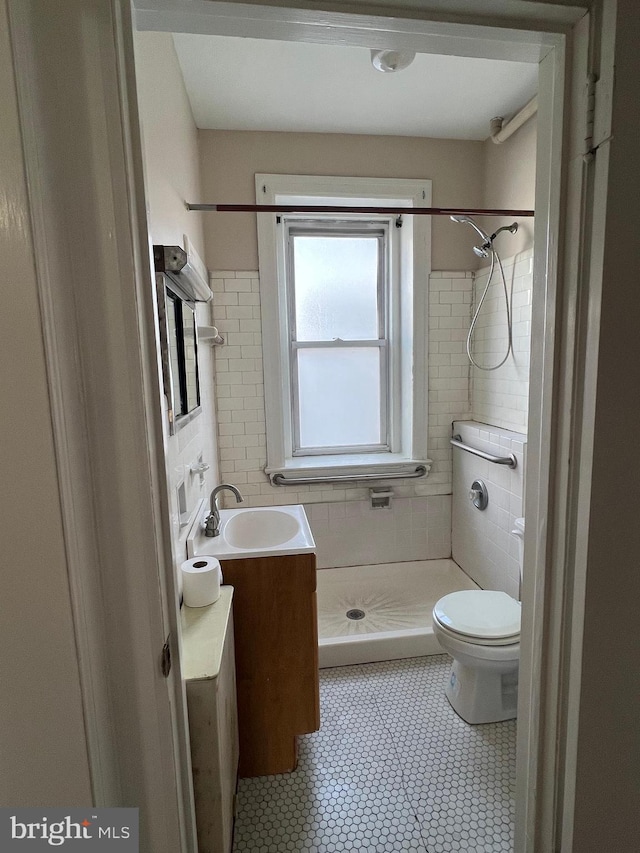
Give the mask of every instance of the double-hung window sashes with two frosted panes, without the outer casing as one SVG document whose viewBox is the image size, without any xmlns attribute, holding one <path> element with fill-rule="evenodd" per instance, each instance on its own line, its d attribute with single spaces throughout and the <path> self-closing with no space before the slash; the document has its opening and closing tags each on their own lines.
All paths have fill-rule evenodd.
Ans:
<svg viewBox="0 0 640 853">
<path fill-rule="evenodd" d="M 388 452 L 389 223 L 284 228 L 293 455 Z"/>
</svg>

